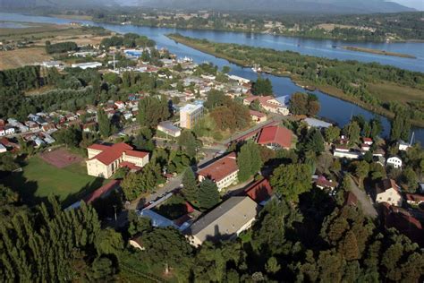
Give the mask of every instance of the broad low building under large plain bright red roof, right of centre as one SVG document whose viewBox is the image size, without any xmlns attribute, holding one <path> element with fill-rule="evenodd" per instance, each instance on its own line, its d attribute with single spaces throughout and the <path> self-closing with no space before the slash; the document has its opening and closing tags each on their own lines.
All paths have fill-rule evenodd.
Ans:
<svg viewBox="0 0 424 283">
<path fill-rule="evenodd" d="M 292 131 L 279 125 L 271 125 L 259 132 L 257 142 L 271 150 L 289 150 L 292 147 L 292 137 Z"/>
</svg>

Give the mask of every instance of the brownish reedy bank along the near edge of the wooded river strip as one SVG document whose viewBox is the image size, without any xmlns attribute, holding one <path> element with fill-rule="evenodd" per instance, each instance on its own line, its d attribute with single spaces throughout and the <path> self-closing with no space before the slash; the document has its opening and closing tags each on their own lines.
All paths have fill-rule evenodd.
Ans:
<svg viewBox="0 0 424 283">
<path fill-rule="evenodd" d="M 256 64 L 256 62 L 248 62 L 241 59 L 235 59 L 232 56 L 227 56 L 224 53 L 217 52 L 216 47 L 213 47 L 210 45 L 210 42 L 208 40 L 198 40 L 199 42 L 192 40 L 190 38 L 185 38 L 180 35 L 176 34 L 168 34 L 166 35 L 169 39 L 173 39 L 175 42 L 182 44 L 187 47 L 191 47 L 193 49 L 199 50 L 201 52 L 207 53 L 211 56 L 216 56 L 221 59 L 225 59 L 230 63 L 237 64 L 239 66 L 250 68 L 252 65 Z M 203 43 L 203 44 L 202 44 Z M 269 71 L 269 69 L 268 69 Z M 332 97 L 335 97 L 337 99 L 342 99 L 344 101 L 350 102 L 354 105 L 357 105 L 359 107 L 362 107 L 366 110 L 369 110 L 375 114 L 386 116 L 387 118 L 393 118 L 394 113 L 387 110 L 384 107 L 376 106 L 376 105 L 370 105 L 364 101 L 361 101 L 360 99 L 357 99 L 355 97 L 352 97 L 350 95 L 347 95 L 343 92 L 343 90 L 340 90 L 334 86 L 328 85 L 328 84 L 319 84 L 313 81 L 304 80 L 299 75 L 295 75 L 293 73 L 289 73 L 287 71 L 278 71 L 276 69 L 273 69 L 271 72 L 267 72 L 269 74 L 279 76 L 279 77 L 290 77 L 291 80 L 296 83 L 298 86 L 301 86 L 305 90 L 319 90 L 327 95 L 330 95 Z M 424 121 L 422 120 L 416 120 L 411 119 L 411 124 L 419 127 L 424 127 Z"/>
</svg>

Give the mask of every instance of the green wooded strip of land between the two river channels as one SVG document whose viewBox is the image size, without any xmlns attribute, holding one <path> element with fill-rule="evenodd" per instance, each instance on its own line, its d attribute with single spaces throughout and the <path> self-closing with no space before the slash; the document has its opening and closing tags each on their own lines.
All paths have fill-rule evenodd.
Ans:
<svg viewBox="0 0 424 283">
<path fill-rule="evenodd" d="M 424 124 L 424 104 L 420 97 L 405 103 L 396 97 L 387 99 L 384 97 L 385 93 L 379 93 L 377 96 L 371 90 L 372 86 L 393 84 L 401 86 L 399 89 L 404 92 L 418 91 L 423 95 L 423 73 L 377 63 L 339 61 L 304 56 L 293 51 L 214 43 L 207 39 L 192 39 L 179 34 L 169 37 L 235 64 L 259 64 L 265 72 L 290 75 L 294 81 L 300 81 L 301 84 L 322 88 L 331 95 L 351 100 L 386 116 L 393 117 L 394 113 L 407 112 L 414 124 Z M 397 95 L 402 97 L 404 93 L 399 92 Z"/>
</svg>

